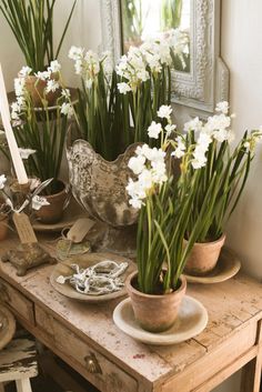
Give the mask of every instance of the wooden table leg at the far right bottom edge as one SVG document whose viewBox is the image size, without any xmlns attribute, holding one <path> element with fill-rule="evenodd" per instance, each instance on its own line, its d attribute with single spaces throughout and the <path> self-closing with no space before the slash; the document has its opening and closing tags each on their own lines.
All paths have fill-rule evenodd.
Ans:
<svg viewBox="0 0 262 392">
<path fill-rule="evenodd" d="M 260 392 L 262 372 L 262 321 L 258 324 L 258 355 L 242 369 L 241 392 Z"/>
</svg>

